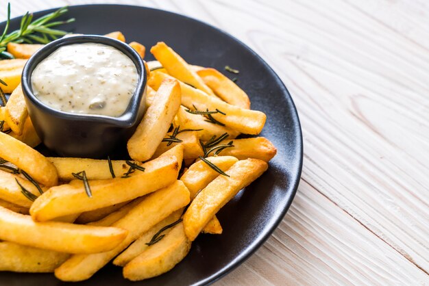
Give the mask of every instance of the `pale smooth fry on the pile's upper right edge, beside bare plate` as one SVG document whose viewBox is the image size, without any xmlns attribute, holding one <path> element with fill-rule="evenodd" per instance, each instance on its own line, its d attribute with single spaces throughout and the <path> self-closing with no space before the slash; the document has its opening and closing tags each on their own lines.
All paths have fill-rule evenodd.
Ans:
<svg viewBox="0 0 429 286">
<path fill-rule="evenodd" d="M 204 68 L 197 71 L 197 75 L 223 101 L 244 109 L 250 109 L 249 96 L 234 81 L 219 73 L 215 68 Z"/>
</svg>

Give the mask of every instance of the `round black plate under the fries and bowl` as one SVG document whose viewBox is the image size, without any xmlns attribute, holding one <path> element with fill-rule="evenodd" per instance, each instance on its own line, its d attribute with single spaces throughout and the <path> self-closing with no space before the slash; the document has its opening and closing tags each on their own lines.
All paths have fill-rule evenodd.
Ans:
<svg viewBox="0 0 429 286">
<path fill-rule="evenodd" d="M 36 12 L 34 16 L 37 18 L 51 11 Z M 265 242 L 295 196 L 302 170 L 302 133 L 289 92 L 273 70 L 249 47 L 192 18 L 128 5 L 72 6 L 66 16 L 73 16 L 76 21 L 62 28 L 75 33 L 106 34 L 119 30 L 128 42 L 141 42 L 147 49 L 158 41 L 164 41 L 192 64 L 211 66 L 221 71 L 225 65 L 237 68 L 240 70 L 237 83 L 249 94 L 252 109 L 267 114 L 262 136 L 275 144 L 278 154 L 260 179 L 239 192 L 219 211 L 222 235 L 199 235 L 184 261 L 156 278 L 131 283 L 122 277 L 121 268 L 108 265 L 90 280 L 73 285 L 212 283 L 243 263 Z M 12 29 L 18 25 L 19 19 L 12 20 Z M 3 28 L 4 23 L 0 30 Z M 153 59 L 149 51 L 147 59 Z M 1 286 L 62 284 L 53 274 L 0 273 Z"/>
</svg>

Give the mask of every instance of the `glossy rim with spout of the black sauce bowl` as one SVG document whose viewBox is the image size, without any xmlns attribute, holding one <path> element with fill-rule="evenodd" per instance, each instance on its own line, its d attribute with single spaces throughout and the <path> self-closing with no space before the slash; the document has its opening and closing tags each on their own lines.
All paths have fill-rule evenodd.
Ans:
<svg viewBox="0 0 429 286">
<path fill-rule="evenodd" d="M 64 47 L 69 44 L 84 44 L 91 42 L 96 44 L 105 44 L 110 47 L 114 47 L 115 49 L 118 49 L 127 57 L 130 57 L 130 59 L 136 66 L 138 73 L 136 90 L 134 90 L 134 94 L 130 99 L 130 103 L 128 104 L 127 109 L 125 109 L 125 112 L 121 116 L 113 117 L 99 114 L 75 114 L 71 112 L 64 112 L 53 107 L 49 107 L 48 105 L 40 101 L 40 99 L 38 99 L 38 97 L 33 93 L 31 84 L 32 73 L 34 71 L 34 68 L 36 68 L 36 66 L 40 64 L 42 60 L 45 60 L 46 57 L 51 55 L 60 47 Z M 23 68 L 23 73 L 21 76 L 21 86 L 23 89 L 24 96 L 29 99 L 29 101 L 31 101 L 33 105 L 35 105 L 38 109 L 41 109 L 43 112 L 49 113 L 53 116 L 65 120 L 75 120 L 80 122 L 100 122 L 108 125 L 126 128 L 131 127 L 138 120 L 138 109 L 140 108 L 141 101 L 143 101 L 145 89 L 147 86 L 147 70 L 140 55 L 125 42 L 99 35 L 67 36 L 65 38 L 60 38 L 58 40 L 49 42 L 49 44 L 46 44 L 45 47 L 38 49 L 38 51 L 36 51 L 36 53 L 34 53 L 34 55 L 32 55 L 32 57 L 27 60 L 27 63 Z"/>
</svg>

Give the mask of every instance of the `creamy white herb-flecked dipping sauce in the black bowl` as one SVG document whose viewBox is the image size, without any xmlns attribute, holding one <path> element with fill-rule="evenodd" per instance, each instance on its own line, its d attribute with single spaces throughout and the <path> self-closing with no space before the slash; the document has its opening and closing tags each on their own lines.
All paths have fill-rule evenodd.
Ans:
<svg viewBox="0 0 429 286">
<path fill-rule="evenodd" d="M 34 95 L 63 112 L 118 117 L 125 112 L 138 73 L 124 53 L 105 44 L 69 44 L 32 73 Z"/>
</svg>

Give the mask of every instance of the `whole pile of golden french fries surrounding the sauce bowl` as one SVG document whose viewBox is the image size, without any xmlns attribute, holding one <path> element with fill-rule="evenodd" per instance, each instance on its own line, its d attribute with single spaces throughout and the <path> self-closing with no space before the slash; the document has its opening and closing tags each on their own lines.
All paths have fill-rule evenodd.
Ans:
<svg viewBox="0 0 429 286">
<path fill-rule="evenodd" d="M 132 160 L 45 157 L 34 150 L 40 140 L 20 86 L 41 46 L 10 45 L 16 59 L 0 61 L 0 86 L 12 93 L 0 109 L 2 271 L 84 281 L 113 259 L 131 281 L 158 276 L 199 233 L 222 233 L 216 213 L 275 156 L 267 138 L 236 139 L 258 135 L 266 120 L 241 88 L 158 42 L 147 62 L 147 112 L 127 143 Z M 130 46 L 145 56 L 142 44 Z"/>
</svg>

